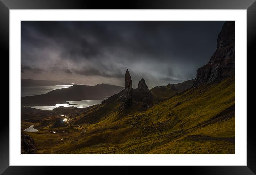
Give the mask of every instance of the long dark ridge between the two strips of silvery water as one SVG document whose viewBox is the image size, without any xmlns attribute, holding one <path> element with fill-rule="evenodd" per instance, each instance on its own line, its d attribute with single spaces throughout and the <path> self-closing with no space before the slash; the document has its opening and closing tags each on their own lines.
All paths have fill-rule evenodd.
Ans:
<svg viewBox="0 0 256 175">
<path fill-rule="evenodd" d="M 54 106 L 66 101 L 101 100 L 123 89 L 123 87 L 108 84 L 97 84 L 95 86 L 75 84 L 69 88 L 56 89 L 46 94 L 21 97 L 21 105 Z"/>
</svg>

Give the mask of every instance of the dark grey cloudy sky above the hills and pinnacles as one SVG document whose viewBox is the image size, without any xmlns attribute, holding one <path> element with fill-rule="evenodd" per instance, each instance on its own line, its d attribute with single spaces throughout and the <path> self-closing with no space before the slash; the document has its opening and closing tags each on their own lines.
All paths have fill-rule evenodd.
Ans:
<svg viewBox="0 0 256 175">
<path fill-rule="evenodd" d="M 196 76 L 224 21 L 21 21 L 21 78 L 149 88 Z"/>
</svg>

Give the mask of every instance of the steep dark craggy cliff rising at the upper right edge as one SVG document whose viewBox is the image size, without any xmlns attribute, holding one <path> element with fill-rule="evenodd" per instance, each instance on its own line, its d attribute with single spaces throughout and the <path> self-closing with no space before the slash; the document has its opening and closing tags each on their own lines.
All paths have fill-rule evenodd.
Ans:
<svg viewBox="0 0 256 175">
<path fill-rule="evenodd" d="M 210 61 L 197 70 L 193 87 L 235 75 L 235 21 L 226 21 Z"/>
</svg>

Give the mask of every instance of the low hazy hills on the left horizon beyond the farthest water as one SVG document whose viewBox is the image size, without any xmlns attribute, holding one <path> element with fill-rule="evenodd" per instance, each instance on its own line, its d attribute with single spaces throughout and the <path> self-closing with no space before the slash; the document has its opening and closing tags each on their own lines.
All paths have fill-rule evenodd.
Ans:
<svg viewBox="0 0 256 175">
<path fill-rule="evenodd" d="M 28 87 L 28 86 L 55 86 L 55 85 L 64 85 L 71 83 L 64 83 L 54 80 L 33 80 L 33 79 L 21 79 L 21 87 Z"/>
</svg>

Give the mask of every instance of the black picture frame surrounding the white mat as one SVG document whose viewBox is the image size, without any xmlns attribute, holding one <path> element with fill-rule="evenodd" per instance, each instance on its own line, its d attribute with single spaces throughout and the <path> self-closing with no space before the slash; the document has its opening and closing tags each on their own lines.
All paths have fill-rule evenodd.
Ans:
<svg viewBox="0 0 256 175">
<path fill-rule="evenodd" d="M 9 58 L 9 10 L 10 9 L 247 9 L 247 61 L 255 58 L 254 47 L 256 41 L 256 0 L 129 0 L 129 1 L 88 1 L 88 0 L 0 0 L 0 49 L 2 59 Z M 248 66 L 252 66 L 248 64 Z M 248 69 L 247 69 L 248 70 Z M 254 74 L 248 74 L 255 80 Z M 250 82 L 249 82 L 250 83 Z M 255 86 L 248 86 L 247 92 L 255 90 Z M 252 83 L 251 83 L 252 84 Z M 9 91 L 10 93 L 10 91 Z M 250 97 L 252 98 L 252 97 Z M 255 104 L 252 103 L 251 105 Z M 248 107 L 247 107 L 248 108 Z M 6 110 L 7 111 L 7 110 Z M 249 112 L 249 111 L 248 111 Z M 244 116 L 247 117 L 247 116 Z M 247 117 L 247 166 L 229 167 L 168 167 L 168 171 L 189 172 L 189 174 L 256 174 L 256 139 L 255 115 Z M 67 174 L 69 167 L 14 167 L 9 166 L 9 118 L 1 117 L 0 127 L 0 173 L 3 174 Z M 73 167 L 74 168 L 74 167 Z M 165 171 L 167 167 L 161 169 Z M 90 172 L 90 167 L 76 167 L 75 171 Z M 112 174 L 133 174 L 133 167 L 106 167 L 102 172 Z M 94 170 L 95 171 L 95 170 Z M 97 169 L 99 171 L 99 169 Z M 144 173 L 154 172 L 148 167 Z M 98 172 L 97 174 L 99 174 Z M 144 174 L 143 173 L 143 174 Z M 158 172 L 159 173 L 159 172 Z"/>
</svg>

